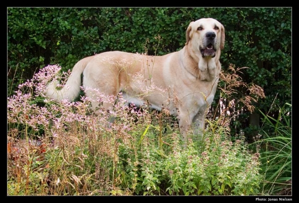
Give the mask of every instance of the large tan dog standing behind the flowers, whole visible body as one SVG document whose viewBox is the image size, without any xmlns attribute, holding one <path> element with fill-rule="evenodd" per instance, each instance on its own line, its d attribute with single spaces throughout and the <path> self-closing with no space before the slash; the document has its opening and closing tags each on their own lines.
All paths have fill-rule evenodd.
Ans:
<svg viewBox="0 0 299 203">
<path fill-rule="evenodd" d="M 215 51 L 209 47 L 203 57 L 200 48 L 208 46 L 207 36 L 213 33 Z M 57 90 L 54 81 L 49 84 L 47 94 L 55 101 L 72 101 L 79 94 L 83 72 L 87 96 L 95 97 L 90 88 L 115 97 L 123 92 L 128 103 L 143 105 L 149 102 L 155 109 L 165 107 L 177 115 L 180 132 L 186 138 L 192 124 L 195 133 L 204 129 L 206 111 L 217 88 L 224 41 L 223 25 L 215 19 L 202 18 L 189 24 L 186 44 L 178 52 L 147 56 L 113 51 L 87 57 L 73 68 L 65 85 L 69 88 Z M 215 56 L 209 56 L 211 53 Z M 93 110 L 96 111 L 98 105 L 93 102 Z M 112 110 L 113 103 L 104 103 L 103 107 Z"/>
</svg>

